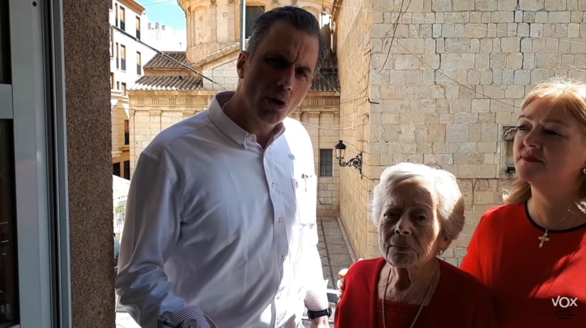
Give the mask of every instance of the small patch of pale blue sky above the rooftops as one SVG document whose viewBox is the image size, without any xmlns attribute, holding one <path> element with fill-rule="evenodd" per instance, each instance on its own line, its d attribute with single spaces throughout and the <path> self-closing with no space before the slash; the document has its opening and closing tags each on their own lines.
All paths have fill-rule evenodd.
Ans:
<svg viewBox="0 0 586 328">
<path fill-rule="evenodd" d="M 135 0 L 146 9 L 150 23 L 159 22 L 172 26 L 175 30 L 185 30 L 185 12 L 177 0 Z"/>
</svg>

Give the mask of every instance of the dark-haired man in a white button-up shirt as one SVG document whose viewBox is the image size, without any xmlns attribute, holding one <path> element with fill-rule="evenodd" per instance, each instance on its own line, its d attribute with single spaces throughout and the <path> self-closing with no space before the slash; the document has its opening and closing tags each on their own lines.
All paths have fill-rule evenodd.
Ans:
<svg viewBox="0 0 586 328">
<path fill-rule="evenodd" d="M 276 8 L 238 57 L 236 92 L 161 132 L 137 162 L 116 292 L 142 327 L 328 325 L 317 177 L 300 105 L 325 45 L 306 10 Z"/>
</svg>

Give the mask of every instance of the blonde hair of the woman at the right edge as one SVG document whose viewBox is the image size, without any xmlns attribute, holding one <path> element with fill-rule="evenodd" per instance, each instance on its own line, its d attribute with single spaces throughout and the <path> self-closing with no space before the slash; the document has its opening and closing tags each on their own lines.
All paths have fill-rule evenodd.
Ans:
<svg viewBox="0 0 586 328">
<path fill-rule="evenodd" d="M 554 78 L 537 84 L 521 103 L 521 111 L 534 100 L 555 102 L 554 109 L 559 109 L 567 116 L 572 116 L 583 126 L 586 140 L 586 84 L 566 78 Z M 581 177 L 576 206 L 586 213 L 586 175 Z M 505 195 L 505 204 L 517 205 L 531 198 L 531 187 L 519 177 L 512 182 L 512 188 Z"/>
</svg>

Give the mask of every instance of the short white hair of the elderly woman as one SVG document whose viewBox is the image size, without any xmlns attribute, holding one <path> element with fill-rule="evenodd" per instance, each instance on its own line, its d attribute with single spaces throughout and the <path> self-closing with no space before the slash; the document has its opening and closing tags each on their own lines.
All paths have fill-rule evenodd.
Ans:
<svg viewBox="0 0 586 328">
<path fill-rule="evenodd" d="M 423 164 L 399 163 L 385 168 L 381 174 L 381 181 L 372 192 L 372 204 L 370 205 L 370 217 L 376 228 L 379 228 L 379 220 L 385 201 L 390 196 L 393 188 L 412 178 L 423 179 L 433 186 L 437 197 L 437 215 L 442 224 L 444 235 L 450 241 L 458 238 L 458 234 L 464 228 L 464 197 L 453 174 L 448 171 L 432 168 Z"/>
</svg>

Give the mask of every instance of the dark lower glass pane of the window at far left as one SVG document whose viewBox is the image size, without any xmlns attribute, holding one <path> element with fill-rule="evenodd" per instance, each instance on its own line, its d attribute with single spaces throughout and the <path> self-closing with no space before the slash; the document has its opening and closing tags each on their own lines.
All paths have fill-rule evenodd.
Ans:
<svg viewBox="0 0 586 328">
<path fill-rule="evenodd" d="M 0 120 L 0 327 L 19 323 L 12 120 Z"/>
</svg>

